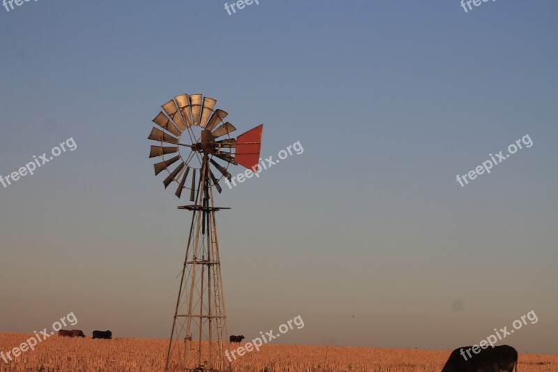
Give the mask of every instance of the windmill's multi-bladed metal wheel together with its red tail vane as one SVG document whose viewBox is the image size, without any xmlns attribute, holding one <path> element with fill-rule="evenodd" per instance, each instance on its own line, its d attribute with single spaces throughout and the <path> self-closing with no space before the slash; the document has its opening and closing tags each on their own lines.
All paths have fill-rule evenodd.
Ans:
<svg viewBox="0 0 558 372">
<path fill-rule="evenodd" d="M 263 125 L 252 128 L 237 139 L 232 138 L 230 133 L 236 128 L 229 122 L 223 122 L 227 112 L 213 110 L 216 103 L 215 99 L 202 97 L 202 94 L 182 94 L 162 105 L 163 111 L 153 119 L 160 128 L 154 127 L 148 139 L 159 143 L 151 145 L 149 158 L 160 156 L 163 159 L 153 165 L 155 175 L 166 170 L 163 184 L 167 188 L 176 182 L 175 195 L 178 198 L 186 188 L 190 190 L 190 200 L 193 201 L 202 187 L 200 179 L 204 175 L 209 186 L 215 186 L 220 193 L 220 179 L 231 179 L 229 165 L 255 168 L 259 161 Z M 204 170 L 204 164 L 207 164 L 207 170 Z M 217 177 L 210 164 L 217 170 Z"/>
</svg>

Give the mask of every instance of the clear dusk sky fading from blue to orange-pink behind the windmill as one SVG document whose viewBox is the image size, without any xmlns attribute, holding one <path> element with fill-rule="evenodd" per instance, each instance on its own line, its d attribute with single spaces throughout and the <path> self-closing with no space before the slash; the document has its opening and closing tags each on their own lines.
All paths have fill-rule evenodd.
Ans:
<svg viewBox="0 0 558 372">
<path fill-rule="evenodd" d="M 236 133 L 264 124 L 264 157 L 303 148 L 216 198 L 231 334 L 301 315 L 274 342 L 450 350 L 532 311 L 501 343 L 555 354 L 557 16 L 553 0 L 0 8 L 0 174 L 75 144 L 0 184 L 0 332 L 73 312 L 86 334 L 169 336 L 190 215 L 147 135 L 186 92 Z"/>
</svg>

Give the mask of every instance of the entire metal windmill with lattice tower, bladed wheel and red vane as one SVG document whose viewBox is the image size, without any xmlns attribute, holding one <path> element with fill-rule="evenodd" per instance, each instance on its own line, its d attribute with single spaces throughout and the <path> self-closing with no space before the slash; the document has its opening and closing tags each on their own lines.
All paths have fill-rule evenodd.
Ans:
<svg viewBox="0 0 558 372">
<path fill-rule="evenodd" d="M 155 175 L 164 170 L 165 188 L 178 184 L 175 195 L 190 191 L 190 202 L 179 209 L 192 212 L 186 258 L 172 322 L 165 371 L 231 371 L 225 359 L 227 316 L 220 270 L 213 189 L 231 179 L 230 165 L 258 170 L 263 124 L 234 138 L 236 128 L 223 122 L 227 112 L 215 108 L 217 101 L 202 94 L 182 94 L 163 104 L 153 119 L 149 158 L 161 157 Z"/>
</svg>

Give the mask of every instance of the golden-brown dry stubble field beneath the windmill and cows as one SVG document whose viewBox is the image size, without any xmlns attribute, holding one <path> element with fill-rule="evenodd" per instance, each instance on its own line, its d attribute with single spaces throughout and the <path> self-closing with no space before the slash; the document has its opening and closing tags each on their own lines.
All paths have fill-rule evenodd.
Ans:
<svg viewBox="0 0 558 372">
<path fill-rule="evenodd" d="M 0 352 L 7 352 L 33 336 L 0 334 Z M 166 340 L 149 338 L 59 338 L 51 336 L 35 350 L 23 352 L 0 371 L 160 371 Z M 449 351 L 352 348 L 343 346 L 262 346 L 233 363 L 233 371 L 428 371 L 439 372 Z M 518 371 L 558 371 L 557 355 L 520 354 Z"/>
</svg>

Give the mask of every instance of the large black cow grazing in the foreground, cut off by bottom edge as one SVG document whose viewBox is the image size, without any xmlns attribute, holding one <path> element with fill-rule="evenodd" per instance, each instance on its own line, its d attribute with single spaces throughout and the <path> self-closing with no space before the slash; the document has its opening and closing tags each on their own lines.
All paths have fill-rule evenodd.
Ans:
<svg viewBox="0 0 558 372">
<path fill-rule="evenodd" d="M 469 350 L 472 348 L 464 346 L 453 350 L 442 372 L 513 372 L 514 366 L 515 371 L 518 371 L 518 351 L 511 346 L 489 346 L 482 349 L 475 345 L 475 348 L 480 349 L 478 354 Z"/>
</svg>

